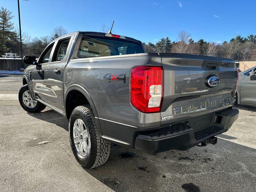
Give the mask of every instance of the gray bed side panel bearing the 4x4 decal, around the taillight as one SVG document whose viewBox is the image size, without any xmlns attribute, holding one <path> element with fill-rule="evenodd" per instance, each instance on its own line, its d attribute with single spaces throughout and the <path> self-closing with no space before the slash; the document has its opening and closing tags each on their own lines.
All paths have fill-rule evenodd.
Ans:
<svg viewBox="0 0 256 192">
<path fill-rule="evenodd" d="M 160 113 L 144 114 L 130 104 L 130 72 L 143 65 L 161 66 L 161 58 L 157 54 L 131 54 L 73 59 L 65 68 L 64 90 L 74 84 L 82 86 L 90 94 L 98 118 L 138 127 L 159 125 Z M 125 74 L 126 82 L 109 81 L 106 74 Z"/>
</svg>

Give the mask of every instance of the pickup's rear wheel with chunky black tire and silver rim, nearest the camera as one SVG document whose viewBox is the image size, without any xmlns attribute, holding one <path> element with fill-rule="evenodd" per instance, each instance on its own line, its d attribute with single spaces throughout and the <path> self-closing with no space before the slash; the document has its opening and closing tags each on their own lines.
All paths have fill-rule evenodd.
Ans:
<svg viewBox="0 0 256 192">
<path fill-rule="evenodd" d="M 69 136 L 73 154 L 82 167 L 95 168 L 108 160 L 111 144 L 99 136 L 90 106 L 78 106 L 73 110 Z"/>
</svg>

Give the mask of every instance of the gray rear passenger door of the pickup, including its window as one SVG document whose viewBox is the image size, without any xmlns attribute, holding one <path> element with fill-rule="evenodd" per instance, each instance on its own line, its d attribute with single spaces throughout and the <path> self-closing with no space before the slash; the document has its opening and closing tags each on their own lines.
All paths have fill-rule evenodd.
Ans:
<svg viewBox="0 0 256 192">
<path fill-rule="evenodd" d="M 44 72 L 46 97 L 48 103 L 63 112 L 63 70 L 68 58 L 72 36 L 64 36 L 56 42 L 52 62 L 46 65 Z"/>
</svg>

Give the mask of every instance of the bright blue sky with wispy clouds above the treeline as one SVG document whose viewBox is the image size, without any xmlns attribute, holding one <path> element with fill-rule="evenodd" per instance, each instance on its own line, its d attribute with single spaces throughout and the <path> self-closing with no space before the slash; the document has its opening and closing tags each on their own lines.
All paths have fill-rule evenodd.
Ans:
<svg viewBox="0 0 256 192">
<path fill-rule="evenodd" d="M 0 0 L 0 6 L 18 26 L 17 0 Z M 32 37 L 50 35 L 58 25 L 100 31 L 115 20 L 116 34 L 153 43 L 167 36 L 175 41 L 180 30 L 209 42 L 256 34 L 255 8 L 255 0 L 20 0 L 22 31 Z"/>
</svg>

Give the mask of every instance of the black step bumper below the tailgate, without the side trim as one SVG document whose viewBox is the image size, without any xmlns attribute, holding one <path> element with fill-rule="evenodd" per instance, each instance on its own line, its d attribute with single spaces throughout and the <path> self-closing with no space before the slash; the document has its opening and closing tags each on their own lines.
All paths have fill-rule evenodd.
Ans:
<svg viewBox="0 0 256 192">
<path fill-rule="evenodd" d="M 208 138 L 226 132 L 238 118 L 237 109 L 216 112 L 211 126 L 195 131 L 186 124 L 175 124 L 148 134 L 136 137 L 135 148 L 147 153 L 170 149 L 187 150 Z"/>
</svg>

